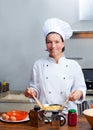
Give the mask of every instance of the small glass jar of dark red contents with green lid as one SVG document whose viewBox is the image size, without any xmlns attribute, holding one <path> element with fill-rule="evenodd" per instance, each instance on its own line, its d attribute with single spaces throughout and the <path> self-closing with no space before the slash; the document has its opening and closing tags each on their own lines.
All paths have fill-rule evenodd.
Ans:
<svg viewBox="0 0 93 130">
<path fill-rule="evenodd" d="M 68 110 L 68 125 L 76 126 L 77 124 L 77 112 L 75 109 Z"/>
</svg>

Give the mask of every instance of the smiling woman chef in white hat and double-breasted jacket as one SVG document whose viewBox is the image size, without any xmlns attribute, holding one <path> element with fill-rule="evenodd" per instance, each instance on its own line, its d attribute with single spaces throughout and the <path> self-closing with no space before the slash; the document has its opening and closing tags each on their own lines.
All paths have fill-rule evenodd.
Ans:
<svg viewBox="0 0 93 130">
<path fill-rule="evenodd" d="M 43 32 L 49 56 L 34 63 L 30 90 L 24 94 L 29 98 L 35 95 L 42 104 L 62 104 L 68 98 L 68 108 L 77 109 L 77 103 L 85 99 L 86 85 L 79 64 L 63 53 L 72 30 L 68 23 L 51 18 L 44 23 Z"/>
</svg>

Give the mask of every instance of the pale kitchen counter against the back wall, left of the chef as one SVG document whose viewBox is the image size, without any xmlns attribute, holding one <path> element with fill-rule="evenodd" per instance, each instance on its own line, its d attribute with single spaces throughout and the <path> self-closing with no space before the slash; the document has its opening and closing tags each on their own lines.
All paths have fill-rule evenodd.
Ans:
<svg viewBox="0 0 93 130">
<path fill-rule="evenodd" d="M 10 110 L 23 110 L 29 112 L 35 103 L 31 103 L 28 98 L 24 96 L 23 91 L 7 91 L 0 93 L 0 112 Z"/>
</svg>

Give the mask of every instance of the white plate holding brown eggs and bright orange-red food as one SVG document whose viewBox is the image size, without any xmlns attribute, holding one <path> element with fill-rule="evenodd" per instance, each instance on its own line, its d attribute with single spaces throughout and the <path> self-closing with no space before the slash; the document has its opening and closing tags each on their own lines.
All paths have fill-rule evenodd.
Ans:
<svg viewBox="0 0 93 130">
<path fill-rule="evenodd" d="M 20 111 L 20 110 L 13 110 L 13 111 L 8 111 L 5 113 L 2 113 L 2 116 L 0 117 L 0 119 L 4 122 L 15 123 L 15 122 L 24 122 L 24 121 L 29 120 L 28 112 Z M 4 119 L 4 118 L 7 118 L 7 116 L 8 116 L 8 118 L 10 118 L 10 120 Z M 16 121 L 15 121 L 15 119 L 16 119 Z"/>
</svg>

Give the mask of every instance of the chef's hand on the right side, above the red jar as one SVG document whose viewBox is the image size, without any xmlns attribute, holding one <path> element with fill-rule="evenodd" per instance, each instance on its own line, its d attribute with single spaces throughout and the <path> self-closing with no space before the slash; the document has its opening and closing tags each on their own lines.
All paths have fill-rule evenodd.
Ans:
<svg viewBox="0 0 93 130">
<path fill-rule="evenodd" d="M 75 101 L 80 100 L 83 96 L 83 92 L 81 90 L 74 90 L 70 95 L 68 96 L 69 101 Z"/>
</svg>

